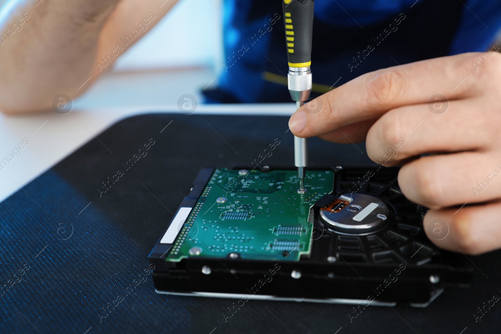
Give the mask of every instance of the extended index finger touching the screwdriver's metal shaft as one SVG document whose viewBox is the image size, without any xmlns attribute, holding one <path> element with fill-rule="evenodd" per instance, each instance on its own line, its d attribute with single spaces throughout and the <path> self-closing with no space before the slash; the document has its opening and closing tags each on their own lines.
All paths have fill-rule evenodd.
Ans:
<svg viewBox="0 0 501 334">
<path fill-rule="evenodd" d="M 494 56 L 468 53 L 366 73 L 317 98 L 322 99 L 324 105 L 320 113 L 308 113 L 307 105 L 298 109 L 291 116 L 289 127 L 298 137 L 314 137 L 378 118 L 397 107 L 427 103 L 435 94 L 442 94 L 449 100 L 473 96 L 481 87 L 477 87 L 474 80 L 461 81 L 467 76 L 488 73 L 487 69 L 482 69 L 475 74 L 471 64 L 478 62 L 479 55 Z"/>
</svg>

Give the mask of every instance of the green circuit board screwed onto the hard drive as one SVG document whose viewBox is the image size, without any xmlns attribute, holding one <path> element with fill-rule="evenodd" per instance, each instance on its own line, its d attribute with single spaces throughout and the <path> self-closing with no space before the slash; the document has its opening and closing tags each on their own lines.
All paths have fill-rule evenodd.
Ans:
<svg viewBox="0 0 501 334">
<path fill-rule="evenodd" d="M 236 253 L 242 259 L 298 261 L 311 251 L 310 208 L 332 192 L 333 179 L 333 171 L 307 171 L 307 192 L 299 194 L 295 170 L 215 169 L 166 260 Z"/>
</svg>

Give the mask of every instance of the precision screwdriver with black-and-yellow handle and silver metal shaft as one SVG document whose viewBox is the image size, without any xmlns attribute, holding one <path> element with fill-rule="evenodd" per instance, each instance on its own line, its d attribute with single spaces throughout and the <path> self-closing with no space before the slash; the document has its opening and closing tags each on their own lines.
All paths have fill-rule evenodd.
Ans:
<svg viewBox="0 0 501 334">
<path fill-rule="evenodd" d="M 287 86 L 296 109 L 310 98 L 312 91 L 311 53 L 314 0 L 283 0 L 285 37 L 289 74 Z M 306 166 L 308 166 L 308 139 L 294 136 L 294 164 L 298 167 L 299 189 L 304 194 Z"/>
</svg>

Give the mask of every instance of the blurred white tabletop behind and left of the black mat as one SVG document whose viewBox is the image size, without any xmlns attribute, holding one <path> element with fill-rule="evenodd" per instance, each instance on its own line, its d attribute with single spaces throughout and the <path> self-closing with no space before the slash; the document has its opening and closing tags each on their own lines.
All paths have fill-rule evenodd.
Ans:
<svg viewBox="0 0 501 334">
<path fill-rule="evenodd" d="M 152 112 L 179 113 L 177 100 L 183 94 L 202 101 L 200 91 L 214 77 L 203 69 L 111 73 L 76 99 L 67 115 L 52 111 L 20 116 L 0 113 L 0 160 L 8 157 L 24 138 L 30 141 L 20 150 L 21 155 L 0 170 L 0 202 L 119 120 Z M 196 113 L 292 115 L 294 111 L 294 103 L 200 104 Z"/>
</svg>

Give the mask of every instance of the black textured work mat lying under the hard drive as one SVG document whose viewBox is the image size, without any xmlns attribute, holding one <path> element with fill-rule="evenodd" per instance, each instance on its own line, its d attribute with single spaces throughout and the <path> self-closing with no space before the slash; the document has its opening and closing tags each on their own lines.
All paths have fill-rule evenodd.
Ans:
<svg viewBox="0 0 501 334">
<path fill-rule="evenodd" d="M 5 200 L 0 332 L 499 332 L 501 305 L 490 301 L 501 296 L 499 252 L 470 257 L 478 268 L 471 288 L 446 288 L 427 308 L 369 306 L 351 322 L 348 305 L 248 300 L 225 319 L 233 299 L 156 294 L 144 275 L 147 255 L 200 167 L 245 165 L 275 138 L 280 144 L 263 164 L 291 165 L 286 130 L 286 117 L 133 117 Z M 149 142 L 147 155 L 127 169 Z M 310 153 L 311 164 L 370 164 L 363 144 L 313 139 Z M 108 177 L 117 181 L 100 193 Z"/>
</svg>

